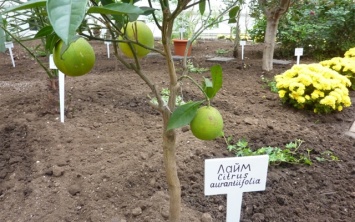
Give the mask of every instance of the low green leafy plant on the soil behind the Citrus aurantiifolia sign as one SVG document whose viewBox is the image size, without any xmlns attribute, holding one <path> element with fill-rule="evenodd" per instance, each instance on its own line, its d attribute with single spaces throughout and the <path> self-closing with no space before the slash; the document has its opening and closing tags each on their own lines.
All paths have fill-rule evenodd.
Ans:
<svg viewBox="0 0 355 222">
<path fill-rule="evenodd" d="M 285 148 L 281 149 L 279 147 L 261 147 L 253 150 L 249 147 L 248 141 L 245 139 L 238 140 L 235 144 L 229 144 L 232 140 L 231 137 L 227 139 L 227 149 L 230 152 L 234 152 L 236 156 L 255 156 L 255 155 L 269 155 L 270 164 L 281 164 L 281 163 L 291 163 L 291 164 L 305 164 L 311 165 L 312 161 L 310 159 L 311 150 L 307 150 L 304 154 L 299 151 L 303 140 L 296 139 L 285 145 Z"/>
</svg>

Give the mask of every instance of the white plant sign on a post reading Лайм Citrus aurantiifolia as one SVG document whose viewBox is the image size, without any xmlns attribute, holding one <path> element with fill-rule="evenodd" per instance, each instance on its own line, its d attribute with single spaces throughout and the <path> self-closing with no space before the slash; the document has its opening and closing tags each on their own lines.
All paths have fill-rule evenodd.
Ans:
<svg viewBox="0 0 355 222">
<path fill-rule="evenodd" d="M 243 192 L 266 187 L 269 156 L 205 160 L 205 195 L 227 194 L 227 222 L 239 222 Z"/>
</svg>

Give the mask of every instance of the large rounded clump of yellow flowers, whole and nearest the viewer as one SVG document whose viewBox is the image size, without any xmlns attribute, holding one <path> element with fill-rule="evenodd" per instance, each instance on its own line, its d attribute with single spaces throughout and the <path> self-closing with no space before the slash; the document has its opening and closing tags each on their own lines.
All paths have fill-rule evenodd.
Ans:
<svg viewBox="0 0 355 222">
<path fill-rule="evenodd" d="M 345 76 L 321 64 L 294 65 L 283 74 L 275 76 L 279 97 L 297 108 L 319 108 L 341 111 L 351 105 L 351 82 Z M 317 107 L 317 108 L 315 108 Z"/>
</svg>

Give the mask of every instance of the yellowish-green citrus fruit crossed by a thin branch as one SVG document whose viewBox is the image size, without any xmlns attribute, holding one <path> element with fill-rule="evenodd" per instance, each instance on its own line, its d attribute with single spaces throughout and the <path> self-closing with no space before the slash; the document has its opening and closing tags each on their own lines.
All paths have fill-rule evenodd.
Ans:
<svg viewBox="0 0 355 222">
<path fill-rule="evenodd" d="M 123 32 L 123 30 L 122 30 Z M 150 30 L 150 28 L 141 21 L 135 21 L 135 22 L 129 22 L 127 24 L 127 29 L 126 29 L 126 36 L 129 40 L 132 41 L 137 41 L 140 44 L 147 46 L 149 48 L 154 47 L 154 36 L 153 32 Z M 123 40 L 122 36 L 118 38 L 119 40 Z M 132 43 L 132 48 L 134 52 L 131 50 L 129 47 L 128 43 L 123 43 L 120 42 L 118 44 L 120 47 L 122 53 L 126 55 L 129 58 L 133 58 L 133 53 L 135 52 L 138 58 L 142 58 L 146 56 L 150 50 L 146 49 L 140 45 Z"/>
</svg>

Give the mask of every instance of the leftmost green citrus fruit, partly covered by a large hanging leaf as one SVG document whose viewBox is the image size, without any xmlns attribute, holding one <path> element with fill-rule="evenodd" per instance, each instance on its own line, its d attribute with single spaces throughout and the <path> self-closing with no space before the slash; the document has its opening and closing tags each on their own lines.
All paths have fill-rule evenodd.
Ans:
<svg viewBox="0 0 355 222">
<path fill-rule="evenodd" d="M 82 76 L 90 72 L 95 65 L 95 51 L 84 38 L 72 42 L 62 53 L 63 41 L 59 41 L 53 50 L 53 61 L 57 68 L 67 76 Z"/>
</svg>

